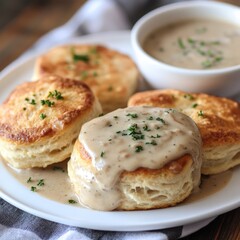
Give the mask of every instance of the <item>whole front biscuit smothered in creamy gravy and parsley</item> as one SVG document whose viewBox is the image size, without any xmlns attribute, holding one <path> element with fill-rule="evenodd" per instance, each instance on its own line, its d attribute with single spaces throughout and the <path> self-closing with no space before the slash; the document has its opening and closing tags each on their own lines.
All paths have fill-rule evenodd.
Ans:
<svg viewBox="0 0 240 240">
<path fill-rule="evenodd" d="M 189 117 L 169 111 L 118 109 L 83 125 L 68 162 L 81 204 L 98 210 L 163 208 L 198 188 L 200 133 Z"/>
</svg>

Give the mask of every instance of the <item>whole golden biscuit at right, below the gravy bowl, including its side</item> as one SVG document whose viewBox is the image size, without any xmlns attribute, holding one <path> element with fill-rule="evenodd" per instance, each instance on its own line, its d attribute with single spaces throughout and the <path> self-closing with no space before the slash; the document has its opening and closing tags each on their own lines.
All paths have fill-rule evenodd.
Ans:
<svg viewBox="0 0 240 240">
<path fill-rule="evenodd" d="M 170 107 L 197 124 L 203 139 L 203 174 L 215 174 L 240 164 L 240 106 L 227 98 L 177 90 L 137 93 L 129 106 Z"/>
</svg>

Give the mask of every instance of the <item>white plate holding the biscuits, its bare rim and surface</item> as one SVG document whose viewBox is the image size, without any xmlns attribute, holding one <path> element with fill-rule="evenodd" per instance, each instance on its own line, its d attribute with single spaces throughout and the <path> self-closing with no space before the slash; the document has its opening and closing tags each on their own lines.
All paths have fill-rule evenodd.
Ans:
<svg viewBox="0 0 240 240">
<path fill-rule="evenodd" d="M 132 56 L 129 32 L 105 33 L 74 39 L 71 43 L 102 43 Z M 12 63 L 0 75 L 0 102 L 19 83 L 29 81 L 36 56 Z M 240 168 L 233 170 L 227 186 L 198 201 L 175 207 L 132 212 L 100 212 L 61 204 L 21 185 L 0 162 L 0 197 L 36 216 L 73 226 L 111 231 L 162 229 L 201 221 L 240 206 Z"/>
</svg>

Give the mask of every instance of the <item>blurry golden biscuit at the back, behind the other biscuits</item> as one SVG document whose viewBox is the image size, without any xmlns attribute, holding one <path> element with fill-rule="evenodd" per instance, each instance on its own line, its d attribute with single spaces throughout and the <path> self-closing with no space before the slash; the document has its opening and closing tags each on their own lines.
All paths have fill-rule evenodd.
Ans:
<svg viewBox="0 0 240 240">
<path fill-rule="evenodd" d="M 51 49 L 37 59 L 34 79 L 57 74 L 86 83 L 103 112 L 126 107 L 136 91 L 138 70 L 125 54 L 100 45 L 70 45 Z"/>
</svg>

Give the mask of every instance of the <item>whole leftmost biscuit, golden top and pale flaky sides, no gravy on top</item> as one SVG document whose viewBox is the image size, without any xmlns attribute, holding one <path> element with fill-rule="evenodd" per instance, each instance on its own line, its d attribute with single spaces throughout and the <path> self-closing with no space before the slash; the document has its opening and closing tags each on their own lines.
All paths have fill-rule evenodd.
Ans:
<svg viewBox="0 0 240 240">
<path fill-rule="evenodd" d="M 0 106 L 0 153 L 16 168 L 68 158 L 86 121 L 101 106 L 85 84 L 58 76 L 16 87 Z"/>
</svg>

